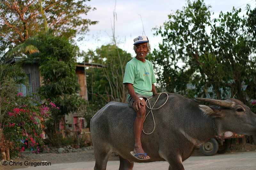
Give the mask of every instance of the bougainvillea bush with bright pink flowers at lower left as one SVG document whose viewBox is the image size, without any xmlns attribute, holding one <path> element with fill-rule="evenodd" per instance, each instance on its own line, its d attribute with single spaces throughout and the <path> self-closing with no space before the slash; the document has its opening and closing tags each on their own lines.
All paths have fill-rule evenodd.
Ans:
<svg viewBox="0 0 256 170">
<path fill-rule="evenodd" d="M 13 143 L 10 156 L 17 156 L 25 148 L 39 153 L 40 149 L 47 147 L 44 145 L 43 137 L 44 120 L 49 117 L 49 109 L 58 108 L 48 100 L 40 104 L 31 96 L 23 96 L 22 93 L 18 93 L 14 101 L 3 101 L 11 105 L 9 111 L 2 113 L 3 119 L 0 124 L 6 140 Z"/>
</svg>

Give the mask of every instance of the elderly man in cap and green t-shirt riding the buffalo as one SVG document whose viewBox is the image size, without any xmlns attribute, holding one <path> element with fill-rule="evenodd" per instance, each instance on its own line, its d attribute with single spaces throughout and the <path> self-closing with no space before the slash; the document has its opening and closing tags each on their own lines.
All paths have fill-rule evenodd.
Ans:
<svg viewBox="0 0 256 170">
<path fill-rule="evenodd" d="M 136 57 L 126 64 L 124 81 L 128 90 L 128 103 L 137 112 L 134 122 L 133 131 L 135 136 L 134 150 L 131 154 L 136 159 L 150 159 L 141 146 L 141 132 L 143 121 L 146 116 L 146 100 L 153 95 L 157 95 L 156 78 L 151 62 L 145 59 L 150 51 L 150 45 L 147 36 L 139 36 L 134 39 L 133 49 Z"/>
</svg>

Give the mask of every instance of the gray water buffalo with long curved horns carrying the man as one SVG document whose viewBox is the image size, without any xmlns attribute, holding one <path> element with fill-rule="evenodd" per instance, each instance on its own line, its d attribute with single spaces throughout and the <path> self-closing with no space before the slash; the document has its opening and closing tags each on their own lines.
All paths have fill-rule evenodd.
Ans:
<svg viewBox="0 0 256 170">
<path fill-rule="evenodd" d="M 105 170 L 112 152 L 120 158 L 119 170 L 133 168 L 134 162 L 168 161 L 169 170 L 183 170 L 182 161 L 193 149 L 218 134 L 233 131 L 238 134 L 256 134 L 256 115 L 236 99 L 213 100 L 197 98 L 214 106 L 202 105 L 178 94 L 168 93 L 167 103 L 160 107 L 167 95 L 161 95 L 153 110 L 155 130 L 142 133 L 141 143 L 148 160 L 135 159 L 130 152 L 134 147 L 133 123 L 135 111 L 125 103 L 112 101 L 101 108 L 91 120 L 91 134 L 95 155 L 94 170 Z M 157 96 L 149 102 L 155 103 Z M 151 104 L 151 106 L 153 105 Z M 147 113 L 148 113 L 147 109 Z M 145 133 L 154 129 L 152 115 L 144 122 Z"/>
</svg>

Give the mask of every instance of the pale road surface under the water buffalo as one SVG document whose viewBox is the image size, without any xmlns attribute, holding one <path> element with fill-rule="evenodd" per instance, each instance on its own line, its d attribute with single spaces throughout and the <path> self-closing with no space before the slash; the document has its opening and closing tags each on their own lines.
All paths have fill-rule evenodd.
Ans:
<svg viewBox="0 0 256 170">
<path fill-rule="evenodd" d="M 92 170 L 94 161 L 52 163 L 51 166 L 30 166 L 17 170 Z M 186 170 L 255 170 L 256 152 L 233 152 L 214 156 L 193 155 L 183 162 Z M 134 170 L 167 170 L 167 162 L 135 163 Z M 107 170 L 117 170 L 118 160 L 108 161 Z"/>
</svg>

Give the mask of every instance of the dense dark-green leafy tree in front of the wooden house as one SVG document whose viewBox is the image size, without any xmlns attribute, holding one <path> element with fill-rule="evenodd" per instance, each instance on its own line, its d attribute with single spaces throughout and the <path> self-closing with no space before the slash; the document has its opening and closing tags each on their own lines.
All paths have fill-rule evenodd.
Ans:
<svg viewBox="0 0 256 170">
<path fill-rule="evenodd" d="M 76 95 L 80 89 L 76 77 L 76 47 L 64 37 L 49 35 L 39 36 L 40 38 L 43 43 L 36 48 L 40 51 L 39 70 L 43 85 L 38 89 L 38 93 L 42 99 L 50 99 L 60 108 L 57 113 L 52 113 L 53 117 L 63 117 L 77 111 L 84 102 Z"/>
</svg>

